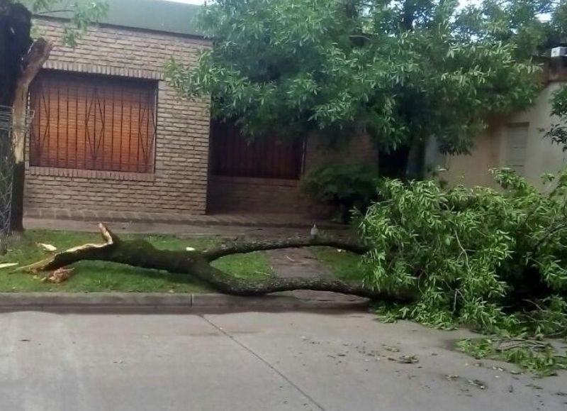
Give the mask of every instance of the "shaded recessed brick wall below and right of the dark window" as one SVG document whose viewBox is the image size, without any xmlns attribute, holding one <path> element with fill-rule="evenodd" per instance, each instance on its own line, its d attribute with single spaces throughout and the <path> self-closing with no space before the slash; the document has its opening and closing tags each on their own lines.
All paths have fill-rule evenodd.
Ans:
<svg viewBox="0 0 567 411">
<path fill-rule="evenodd" d="M 378 153 L 369 136 L 347 138 L 330 146 L 311 136 L 305 147 L 305 170 L 326 163 L 377 164 Z M 311 204 L 298 191 L 298 180 L 246 177 L 209 178 L 209 212 L 307 213 L 325 217 L 328 207 Z"/>
</svg>

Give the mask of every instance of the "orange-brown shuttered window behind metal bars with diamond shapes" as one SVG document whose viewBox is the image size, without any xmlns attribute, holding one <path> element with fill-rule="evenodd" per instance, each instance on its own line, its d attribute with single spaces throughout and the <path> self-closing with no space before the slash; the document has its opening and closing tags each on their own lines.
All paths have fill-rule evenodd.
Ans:
<svg viewBox="0 0 567 411">
<path fill-rule="evenodd" d="M 157 82 L 44 71 L 30 87 L 30 165 L 153 172 Z"/>
</svg>

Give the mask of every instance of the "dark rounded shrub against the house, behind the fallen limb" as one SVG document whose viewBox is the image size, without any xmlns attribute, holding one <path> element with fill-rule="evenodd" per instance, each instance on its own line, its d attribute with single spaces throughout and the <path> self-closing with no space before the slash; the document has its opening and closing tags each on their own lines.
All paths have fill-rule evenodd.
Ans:
<svg viewBox="0 0 567 411">
<path fill-rule="evenodd" d="M 337 219 L 346 222 L 352 209 L 364 212 L 376 199 L 378 172 L 368 165 L 323 165 L 307 172 L 300 191 L 315 202 L 330 204 Z"/>
</svg>

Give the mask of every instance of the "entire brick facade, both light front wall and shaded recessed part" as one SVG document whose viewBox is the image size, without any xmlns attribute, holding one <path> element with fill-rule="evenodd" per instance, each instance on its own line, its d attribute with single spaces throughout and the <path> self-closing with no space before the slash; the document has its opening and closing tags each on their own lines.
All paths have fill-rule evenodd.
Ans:
<svg viewBox="0 0 567 411">
<path fill-rule="evenodd" d="M 114 172 L 30 167 L 26 163 L 26 207 L 205 214 L 262 212 L 318 214 L 298 193 L 298 180 L 208 176 L 209 102 L 181 99 L 163 78 L 172 55 L 193 65 L 208 41 L 187 35 L 100 26 L 75 49 L 60 45 L 62 22 L 41 18 L 38 27 L 57 43 L 49 70 L 157 81 L 155 172 Z M 369 138 L 329 147 L 311 137 L 304 170 L 325 162 L 376 164 Z M 26 148 L 29 155 L 29 143 Z"/>
</svg>

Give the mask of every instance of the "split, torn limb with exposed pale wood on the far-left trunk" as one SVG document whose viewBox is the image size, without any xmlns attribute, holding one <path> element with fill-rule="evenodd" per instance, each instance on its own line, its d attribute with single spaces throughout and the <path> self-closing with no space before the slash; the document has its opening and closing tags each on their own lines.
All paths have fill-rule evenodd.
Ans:
<svg viewBox="0 0 567 411">
<path fill-rule="evenodd" d="M 23 72 L 18 78 L 16 94 L 13 100 L 13 147 L 14 170 L 12 182 L 12 208 L 10 229 L 23 231 L 23 187 L 26 177 L 25 152 L 28 119 L 28 90 L 30 83 L 38 75 L 43 63 L 47 61 L 53 43 L 40 38 L 35 40 L 28 54 L 23 59 Z"/>
</svg>

